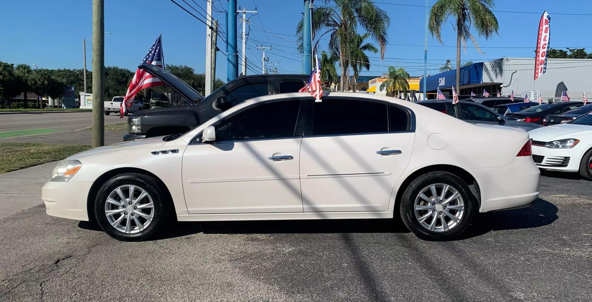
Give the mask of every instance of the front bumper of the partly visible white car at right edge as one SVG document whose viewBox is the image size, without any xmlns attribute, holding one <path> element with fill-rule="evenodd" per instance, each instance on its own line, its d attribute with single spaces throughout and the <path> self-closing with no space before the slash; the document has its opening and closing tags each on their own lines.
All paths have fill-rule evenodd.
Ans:
<svg viewBox="0 0 592 302">
<path fill-rule="evenodd" d="M 532 146 L 532 156 L 540 169 L 577 172 L 584 153 L 590 148 L 586 145 L 575 145 L 570 149 L 554 149 Z"/>
</svg>

